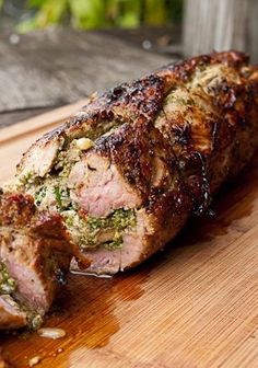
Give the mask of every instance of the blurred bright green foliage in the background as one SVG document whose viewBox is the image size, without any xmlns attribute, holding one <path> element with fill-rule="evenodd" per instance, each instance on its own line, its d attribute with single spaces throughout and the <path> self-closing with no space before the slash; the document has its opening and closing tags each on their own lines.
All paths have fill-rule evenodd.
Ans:
<svg viewBox="0 0 258 368">
<path fill-rule="evenodd" d="M 1 3 L 2 0 L 0 0 Z M 181 19 L 181 0 L 27 0 L 20 32 L 66 24 L 79 30 L 159 26 Z"/>
</svg>

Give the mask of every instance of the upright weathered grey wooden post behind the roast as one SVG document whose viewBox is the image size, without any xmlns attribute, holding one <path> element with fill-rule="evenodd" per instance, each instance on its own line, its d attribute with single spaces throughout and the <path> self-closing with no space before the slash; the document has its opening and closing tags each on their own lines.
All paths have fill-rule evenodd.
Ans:
<svg viewBox="0 0 258 368">
<path fill-rule="evenodd" d="M 184 5 L 185 57 L 237 49 L 258 62 L 257 0 L 185 0 Z"/>
</svg>

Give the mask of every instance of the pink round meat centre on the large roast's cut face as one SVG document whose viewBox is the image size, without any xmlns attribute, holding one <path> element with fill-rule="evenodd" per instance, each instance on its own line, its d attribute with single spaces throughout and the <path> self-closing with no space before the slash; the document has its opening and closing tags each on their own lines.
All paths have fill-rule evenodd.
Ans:
<svg viewBox="0 0 258 368">
<path fill-rule="evenodd" d="M 106 217 L 118 208 L 137 208 L 140 196 L 132 191 L 108 158 L 89 152 L 75 163 L 69 176 L 73 203 L 89 216 Z"/>
</svg>

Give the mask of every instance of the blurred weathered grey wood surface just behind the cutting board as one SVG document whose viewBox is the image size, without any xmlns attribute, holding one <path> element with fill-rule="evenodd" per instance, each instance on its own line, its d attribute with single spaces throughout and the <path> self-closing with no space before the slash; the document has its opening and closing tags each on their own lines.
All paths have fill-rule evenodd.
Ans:
<svg viewBox="0 0 258 368">
<path fill-rule="evenodd" d="M 0 113 L 54 108 L 173 60 L 104 32 L 48 28 L 16 44 L 0 36 Z"/>
</svg>

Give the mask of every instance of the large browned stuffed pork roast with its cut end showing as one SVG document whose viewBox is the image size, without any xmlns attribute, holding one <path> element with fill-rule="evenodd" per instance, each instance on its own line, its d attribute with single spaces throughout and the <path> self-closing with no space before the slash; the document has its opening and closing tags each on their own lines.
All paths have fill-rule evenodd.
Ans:
<svg viewBox="0 0 258 368">
<path fill-rule="evenodd" d="M 258 69 L 237 51 L 121 84 L 36 141 L 15 186 L 64 219 L 94 273 L 132 267 L 172 240 L 258 145 Z"/>
</svg>

